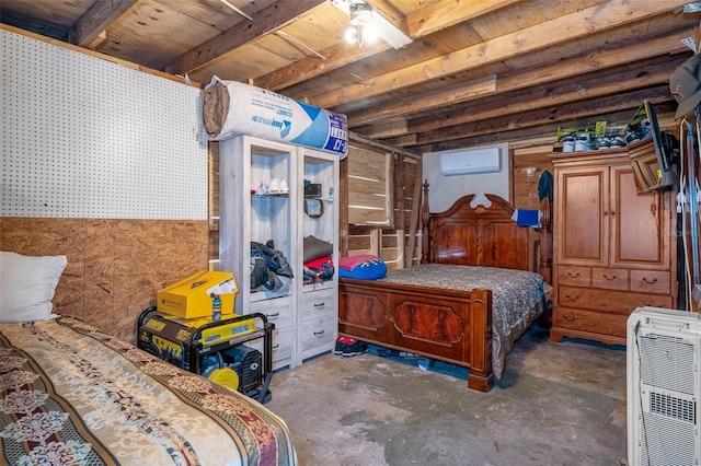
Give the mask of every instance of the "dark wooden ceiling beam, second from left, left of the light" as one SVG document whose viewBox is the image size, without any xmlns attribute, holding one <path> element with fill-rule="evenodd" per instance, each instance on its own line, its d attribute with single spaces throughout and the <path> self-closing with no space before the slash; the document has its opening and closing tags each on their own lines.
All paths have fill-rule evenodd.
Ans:
<svg viewBox="0 0 701 466">
<path fill-rule="evenodd" d="M 327 0 L 278 0 L 256 14 L 256 24 L 248 20 L 206 43 L 186 51 L 164 67 L 164 71 L 172 74 L 185 74 L 237 47 L 255 40 L 261 36 L 272 34 L 304 13 L 324 4 Z"/>
</svg>

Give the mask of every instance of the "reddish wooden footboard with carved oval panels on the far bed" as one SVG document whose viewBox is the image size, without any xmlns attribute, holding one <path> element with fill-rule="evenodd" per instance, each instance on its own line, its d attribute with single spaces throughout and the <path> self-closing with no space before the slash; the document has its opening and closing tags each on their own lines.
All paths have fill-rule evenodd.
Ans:
<svg viewBox="0 0 701 466">
<path fill-rule="evenodd" d="M 492 292 L 341 279 L 338 333 L 470 369 L 468 386 L 489 392 Z"/>
</svg>

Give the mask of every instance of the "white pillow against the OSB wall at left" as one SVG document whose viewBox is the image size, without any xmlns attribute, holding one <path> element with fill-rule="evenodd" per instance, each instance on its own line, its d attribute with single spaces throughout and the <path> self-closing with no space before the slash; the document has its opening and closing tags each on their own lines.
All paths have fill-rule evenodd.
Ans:
<svg viewBox="0 0 701 466">
<path fill-rule="evenodd" d="M 0 252 L 0 324 L 53 318 L 54 292 L 66 256 Z"/>
</svg>

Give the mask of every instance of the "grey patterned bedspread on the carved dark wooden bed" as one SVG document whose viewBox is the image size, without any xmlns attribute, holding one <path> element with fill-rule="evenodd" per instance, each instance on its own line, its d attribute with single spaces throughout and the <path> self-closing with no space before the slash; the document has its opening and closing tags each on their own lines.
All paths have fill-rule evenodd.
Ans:
<svg viewBox="0 0 701 466">
<path fill-rule="evenodd" d="M 502 378 L 506 354 L 515 341 L 544 311 L 549 288 L 536 272 L 447 264 L 399 269 L 379 281 L 445 290 L 492 290 L 492 370 L 497 380 Z"/>
</svg>

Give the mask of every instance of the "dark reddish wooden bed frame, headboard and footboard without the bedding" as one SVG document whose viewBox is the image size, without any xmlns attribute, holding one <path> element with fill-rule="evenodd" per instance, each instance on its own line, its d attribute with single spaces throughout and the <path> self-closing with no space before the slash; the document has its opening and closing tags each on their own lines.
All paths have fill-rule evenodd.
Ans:
<svg viewBox="0 0 701 466">
<path fill-rule="evenodd" d="M 424 183 L 422 263 L 538 271 L 550 283 L 549 199 L 541 202 L 543 226 L 536 230 L 518 226 L 506 200 L 485 196 L 490 207 L 472 208 L 474 195 L 468 195 L 448 210 L 429 214 L 428 185 Z M 342 278 L 338 333 L 469 368 L 470 388 L 489 392 L 494 385 L 491 290 L 459 292 Z"/>
</svg>

